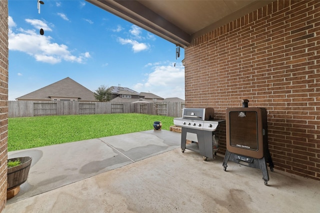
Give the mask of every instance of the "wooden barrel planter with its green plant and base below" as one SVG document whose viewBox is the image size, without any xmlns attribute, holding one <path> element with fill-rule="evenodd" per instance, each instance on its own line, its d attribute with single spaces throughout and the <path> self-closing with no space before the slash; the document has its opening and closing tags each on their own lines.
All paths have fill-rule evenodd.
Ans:
<svg viewBox="0 0 320 213">
<path fill-rule="evenodd" d="M 20 191 L 20 185 L 28 178 L 31 157 L 11 158 L 7 160 L 7 199 L 14 197 Z"/>
</svg>

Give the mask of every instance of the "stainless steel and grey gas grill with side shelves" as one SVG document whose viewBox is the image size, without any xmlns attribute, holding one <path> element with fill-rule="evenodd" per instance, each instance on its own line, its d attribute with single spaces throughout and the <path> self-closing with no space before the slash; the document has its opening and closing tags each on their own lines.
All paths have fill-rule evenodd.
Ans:
<svg viewBox="0 0 320 213">
<path fill-rule="evenodd" d="M 219 122 L 214 120 L 213 108 L 184 108 L 181 118 L 174 118 L 173 123 L 181 127 L 181 151 L 185 149 L 197 152 L 206 161 L 213 159 L 217 151 L 217 140 L 214 131 Z M 186 140 L 191 141 L 186 145 Z"/>
</svg>

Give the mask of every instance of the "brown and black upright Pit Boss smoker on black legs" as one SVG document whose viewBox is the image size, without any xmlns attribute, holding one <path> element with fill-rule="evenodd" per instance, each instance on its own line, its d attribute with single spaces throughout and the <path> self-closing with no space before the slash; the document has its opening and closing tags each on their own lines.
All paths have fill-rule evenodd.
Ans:
<svg viewBox="0 0 320 213">
<path fill-rule="evenodd" d="M 269 181 L 267 164 L 273 172 L 273 162 L 268 149 L 267 113 L 265 108 L 248 107 L 242 100 L 242 108 L 226 109 L 226 152 L 223 170 L 232 161 L 247 167 L 260 169 L 264 185 Z"/>
</svg>

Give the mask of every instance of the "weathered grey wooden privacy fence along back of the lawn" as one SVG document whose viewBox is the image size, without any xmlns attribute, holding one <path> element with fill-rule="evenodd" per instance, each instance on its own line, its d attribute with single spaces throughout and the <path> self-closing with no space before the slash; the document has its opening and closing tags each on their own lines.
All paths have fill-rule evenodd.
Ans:
<svg viewBox="0 0 320 213">
<path fill-rule="evenodd" d="M 114 103 L 78 101 L 8 101 L 9 118 L 46 115 L 141 113 L 181 117 L 184 103 Z"/>
</svg>

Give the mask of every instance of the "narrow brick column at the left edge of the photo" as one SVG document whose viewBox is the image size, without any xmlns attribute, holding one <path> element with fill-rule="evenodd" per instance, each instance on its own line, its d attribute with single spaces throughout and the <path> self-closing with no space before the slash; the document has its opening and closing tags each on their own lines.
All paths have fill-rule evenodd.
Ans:
<svg viewBox="0 0 320 213">
<path fill-rule="evenodd" d="M 8 1 L 0 0 L 0 212 L 6 203 L 8 124 Z"/>
</svg>

